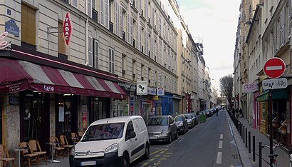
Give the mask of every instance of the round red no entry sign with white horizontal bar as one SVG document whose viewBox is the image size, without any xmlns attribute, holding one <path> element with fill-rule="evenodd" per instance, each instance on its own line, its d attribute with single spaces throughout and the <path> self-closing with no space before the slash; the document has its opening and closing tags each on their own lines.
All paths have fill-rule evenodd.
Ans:
<svg viewBox="0 0 292 167">
<path fill-rule="evenodd" d="M 282 76 L 285 71 L 285 63 L 278 57 L 268 59 L 264 65 L 264 73 L 268 78 L 277 79 Z"/>
</svg>

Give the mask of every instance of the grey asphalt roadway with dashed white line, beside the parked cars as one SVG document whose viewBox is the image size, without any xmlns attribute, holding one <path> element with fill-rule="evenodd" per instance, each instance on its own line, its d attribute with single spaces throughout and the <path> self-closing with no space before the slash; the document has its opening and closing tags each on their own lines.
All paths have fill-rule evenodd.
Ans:
<svg viewBox="0 0 292 167">
<path fill-rule="evenodd" d="M 152 143 L 150 158 L 139 159 L 130 166 L 241 166 L 226 114 L 220 110 L 219 116 L 207 118 L 170 144 Z"/>
</svg>

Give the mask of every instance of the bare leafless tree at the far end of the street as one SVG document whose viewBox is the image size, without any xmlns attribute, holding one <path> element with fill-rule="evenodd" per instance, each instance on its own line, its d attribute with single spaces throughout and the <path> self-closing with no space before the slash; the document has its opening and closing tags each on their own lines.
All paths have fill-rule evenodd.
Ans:
<svg viewBox="0 0 292 167">
<path fill-rule="evenodd" d="M 223 76 L 219 80 L 220 93 L 227 98 L 229 104 L 232 103 L 233 78 L 232 75 Z"/>
</svg>

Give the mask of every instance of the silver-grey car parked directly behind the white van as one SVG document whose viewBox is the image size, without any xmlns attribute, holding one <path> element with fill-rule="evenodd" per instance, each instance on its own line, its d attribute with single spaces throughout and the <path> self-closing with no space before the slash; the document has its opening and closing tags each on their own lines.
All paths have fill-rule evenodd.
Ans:
<svg viewBox="0 0 292 167">
<path fill-rule="evenodd" d="M 177 125 L 172 116 L 152 116 L 146 121 L 150 142 L 162 141 L 172 143 L 172 139 L 179 137 Z"/>
</svg>

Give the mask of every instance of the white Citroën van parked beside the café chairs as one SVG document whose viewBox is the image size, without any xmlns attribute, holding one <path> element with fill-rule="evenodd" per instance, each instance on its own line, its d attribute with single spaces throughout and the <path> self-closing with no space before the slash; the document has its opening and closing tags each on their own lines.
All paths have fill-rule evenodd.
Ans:
<svg viewBox="0 0 292 167">
<path fill-rule="evenodd" d="M 90 124 L 71 150 L 70 166 L 129 166 L 150 157 L 150 143 L 141 116 L 105 118 Z"/>
</svg>

